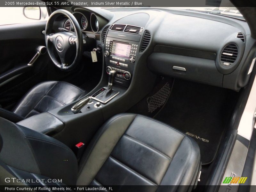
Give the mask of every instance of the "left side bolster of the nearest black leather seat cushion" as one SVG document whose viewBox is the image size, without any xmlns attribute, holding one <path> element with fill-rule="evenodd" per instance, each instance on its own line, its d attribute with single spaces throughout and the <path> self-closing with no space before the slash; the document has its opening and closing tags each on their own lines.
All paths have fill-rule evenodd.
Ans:
<svg viewBox="0 0 256 192">
<path fill-rule="evenodd" d="M 119 114 L 99 129 L 80 160 L 77 185 L 92 182 L 135 117 L 135 114 Z"/>
</svg>

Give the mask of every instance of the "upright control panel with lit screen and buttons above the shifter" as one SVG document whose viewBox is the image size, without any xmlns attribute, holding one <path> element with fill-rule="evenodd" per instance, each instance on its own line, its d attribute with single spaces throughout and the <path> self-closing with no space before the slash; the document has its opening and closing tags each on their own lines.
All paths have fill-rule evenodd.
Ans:
<svg viewBox="0 0 256 192">
<path fill-rule="evenodd" d="M 130 85 L 139 52 L 139 42 L 140 35 L 108 31 L 104 52 L 106 72 L 117 72 L 114 81 L 116 84 L 125 87 Z"/>
</svg>

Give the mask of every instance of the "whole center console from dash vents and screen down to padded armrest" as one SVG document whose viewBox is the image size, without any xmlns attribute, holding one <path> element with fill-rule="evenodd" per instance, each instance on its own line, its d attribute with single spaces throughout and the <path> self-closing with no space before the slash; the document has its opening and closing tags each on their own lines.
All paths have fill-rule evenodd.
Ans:
<svg viewBox="0 0 256 192">
<path fill-rule="evenodd" d="M 79 142 L 87 145 L 108 118 L 127 111 L 153 88 L 156 76 L 140 64 L 146 63 L 140 47 L 148 20 L 147 13 L 136 13 L 104 28 L 100 45 L 105 55 L 102 67 L 106 70 L 99 84 L 83 98 L 19 124 L 50 135 L 69 148 Z"/>
</svg>

